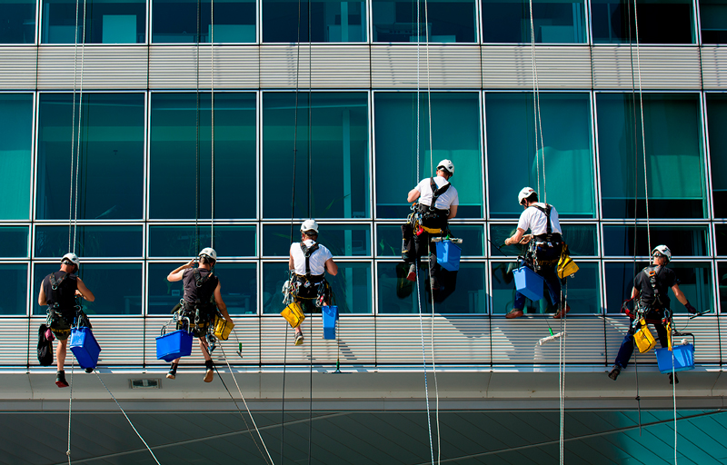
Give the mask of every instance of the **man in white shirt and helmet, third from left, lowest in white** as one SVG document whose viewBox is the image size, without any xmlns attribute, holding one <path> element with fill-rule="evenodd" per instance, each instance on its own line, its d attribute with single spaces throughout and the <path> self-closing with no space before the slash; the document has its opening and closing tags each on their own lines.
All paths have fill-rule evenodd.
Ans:
<svg viewBox="0 0 727 465">
<path fill-rule="evenodd" d="M 325 272 L 332 276 L 338 274 L 338 265 L 328 248 L 318 243 L 318 223 L 305 220 L 301 224 L 301 242 L 290 246 L 288 269 L 291 271 L 295 302 L 303 312 L 321 312 L 321 307 L 331 302 L 331 286 L 325 280 Z M 295 345 L 303 343 L 303 330 L 300 324 L 295 327 Z"/>
</svg>

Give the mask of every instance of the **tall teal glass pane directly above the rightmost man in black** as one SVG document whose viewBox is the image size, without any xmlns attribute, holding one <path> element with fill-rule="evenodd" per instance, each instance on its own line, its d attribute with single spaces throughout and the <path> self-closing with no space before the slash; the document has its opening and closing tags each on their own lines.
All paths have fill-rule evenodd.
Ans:
<svg viewBox="0 0 727 465">
<path fill-rule="evenodd" d="M 635 104 L 631 93 L 596 94 L 605 218 L 633 218 L 634 207 L 637 217 L 646 216 L 638 98 Z M 700 114 L 698 94 L 643 94 L 646 181 L 652 218 L 706 215 Z"/>
</svg>

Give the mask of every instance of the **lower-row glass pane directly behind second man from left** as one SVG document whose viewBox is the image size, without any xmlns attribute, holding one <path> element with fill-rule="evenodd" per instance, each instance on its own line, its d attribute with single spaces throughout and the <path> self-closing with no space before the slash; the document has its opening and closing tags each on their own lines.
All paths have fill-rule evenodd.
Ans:
<svg viewBox="0 0 727 465">
<path fill-rule="evenodd" d="M 169 273 L 181 264 L 184 263 L 149 263 L 148 314 L 167 315 L 184 297 L 184 284 L 181 281 L 169 282 L 166 279 Z M 214 274 L 220 279 L 222 300 L 231 315 L 257 312 L 256 270 L 255 263 L 222 262 L 215 265 Z"/>
</svg>

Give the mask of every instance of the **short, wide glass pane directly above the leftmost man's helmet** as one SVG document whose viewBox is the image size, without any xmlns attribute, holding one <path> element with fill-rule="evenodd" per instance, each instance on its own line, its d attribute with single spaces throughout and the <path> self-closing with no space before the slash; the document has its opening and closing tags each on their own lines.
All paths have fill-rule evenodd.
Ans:
<svg viewBox="0 0 727 465">
<path fill-rule="evenodd" d="M 68 253 L 68 226 L 35 226 L 35 256 L 61 258 Z M 82 258 L 140 257 L 142 226 L 76 226 L 75 253 Z"/>
</svg>

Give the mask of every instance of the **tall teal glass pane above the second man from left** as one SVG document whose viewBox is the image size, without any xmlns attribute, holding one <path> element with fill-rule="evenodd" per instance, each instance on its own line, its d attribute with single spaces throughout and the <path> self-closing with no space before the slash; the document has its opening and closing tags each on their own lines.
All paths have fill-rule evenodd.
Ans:
<svg viewBox="0 0 727 465">
<path fill-rule="evenodd" d="M 211 100 L 209 93 L 152 94 L 149 154 L 152 218 L 210 218 Z M 255 134 L 255 94 L 215 93 L 215 219 L 256 216 Z"/>
</svg>

